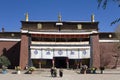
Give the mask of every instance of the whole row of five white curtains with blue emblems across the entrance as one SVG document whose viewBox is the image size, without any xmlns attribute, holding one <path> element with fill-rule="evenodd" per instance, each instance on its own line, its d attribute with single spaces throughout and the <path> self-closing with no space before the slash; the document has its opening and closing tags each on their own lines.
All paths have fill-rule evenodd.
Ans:
<svg viewBox="0 0 120 80">
<path fill-rule="evenodd" d="M 87 59 L 91 57 L 90 46 L 77 49 L 31 49 L 31 59 L 53 59 L 53 57 Z"/>
</svg>

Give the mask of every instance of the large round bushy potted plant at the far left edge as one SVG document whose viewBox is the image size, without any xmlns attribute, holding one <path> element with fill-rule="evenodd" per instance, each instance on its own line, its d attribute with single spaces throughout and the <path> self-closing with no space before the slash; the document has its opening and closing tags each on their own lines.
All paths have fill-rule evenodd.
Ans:
<svg viewBox="0 0 120 80">
<path fill-rule="evenodd" d="M 7 73 L 7 67 L 11 65 L 9 59 L 6 56 L 0 56 L 0 65 L 2 66 L 2 73 Z"/>
</svg>

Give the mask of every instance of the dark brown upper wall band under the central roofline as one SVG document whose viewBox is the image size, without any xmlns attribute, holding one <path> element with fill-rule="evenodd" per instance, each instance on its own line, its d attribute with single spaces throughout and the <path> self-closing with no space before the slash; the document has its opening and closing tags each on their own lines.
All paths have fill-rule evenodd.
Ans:
<svg viewBox="0 0 120 80">
<path fill-rule="evenodd" d="M 56 26 L 55 21 L 49 22 L 35 22 L 35 21 L 21 21 L 22 29 L 29 30 L 58 30 L 58 26 Z M 98 22 L 61 22 L 63 25 L 61 26 L 61 30 L 79 30 L 77 25 L 81 24 L 82 29 L 80 30 L 98 30 Z M 42 29 L 38 29 L 38 24 L 42 25 Z"/>
</svg>

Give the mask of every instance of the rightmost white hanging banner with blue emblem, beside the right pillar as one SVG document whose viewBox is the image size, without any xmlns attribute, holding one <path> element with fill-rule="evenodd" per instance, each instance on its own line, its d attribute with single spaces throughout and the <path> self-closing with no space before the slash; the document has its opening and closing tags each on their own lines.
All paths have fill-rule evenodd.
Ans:
<svg viewBox="0 0 120 80">
<path fill-rule="evenodd" d="M 80 49 L 79 50 L 79 58 L 80 59 L 90 58 L 90 48 Z"/>
</svg>

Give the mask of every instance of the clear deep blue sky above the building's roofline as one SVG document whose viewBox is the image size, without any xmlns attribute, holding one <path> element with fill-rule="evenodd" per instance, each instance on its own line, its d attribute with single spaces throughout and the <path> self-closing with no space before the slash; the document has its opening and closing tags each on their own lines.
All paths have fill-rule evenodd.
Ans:
<svg viewBox="0 0 120 80">
<path fill-rule="evenodd" d="M 110 23 L 120 17 L 117 3 L 109 1 L 107 8 L 97 8 L 97 0 L 0 0 L 0 29 L 7 32 L 20 32 L 21 21 L 29 14 L 29 21 L 95 21 L 99 22 L 100 32 L 114 32 L 119 23 Z M 0 30 L 1 31 L 1 30 Z"/>
</svg>

